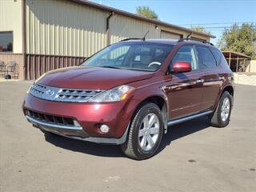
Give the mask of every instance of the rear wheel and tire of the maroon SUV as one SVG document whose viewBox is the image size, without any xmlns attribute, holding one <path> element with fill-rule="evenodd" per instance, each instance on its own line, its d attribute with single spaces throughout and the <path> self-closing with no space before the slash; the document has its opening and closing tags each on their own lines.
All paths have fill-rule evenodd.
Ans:
<svg viewBox="0 0 256 192">
<path fill-rule="evenodd" d="M 223 114 L 222 114 L 222 112 L 224 111 L 224 110 L 222 110 L 222 107 L 224 107 L 223 102 L 227 102 L 227 101 L 229 102 L 229 112 L 228 112 L 228 114 L 226 112 L 225 113 L 226 117 L 223 118 Z M 211 126 L 224 127 L 224 126 L 227 126 L 230 123 L 230 114 L 231 114 L 231 110 L 232 110 L 232 101 L 233 101 L 233 98 L 230 95 L 230 93 L 225 91 L 222 94 L 219 101 L 218 101 L 218 106 L 217 106 L 216 110 L 214 111 L 214 114 L 210 115 L 210 125 Z M 224 108 L 226 109 L 226 107 L 224 107 Z"/>
</svg>

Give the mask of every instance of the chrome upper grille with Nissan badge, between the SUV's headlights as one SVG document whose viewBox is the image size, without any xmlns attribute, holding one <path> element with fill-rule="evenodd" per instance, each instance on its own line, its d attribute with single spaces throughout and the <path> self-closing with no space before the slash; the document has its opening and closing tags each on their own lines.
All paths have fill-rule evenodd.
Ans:
<svg viewBox="0 0 256 192">
<path fill-rule="evenodd" d="M 89 102 L 91 98 L 102 93 L 103 90 L 78 90 L 44 86 L 34 83 L 30 87 L 30 94 L 34 97 L 56 102 Z"/>
</svg>

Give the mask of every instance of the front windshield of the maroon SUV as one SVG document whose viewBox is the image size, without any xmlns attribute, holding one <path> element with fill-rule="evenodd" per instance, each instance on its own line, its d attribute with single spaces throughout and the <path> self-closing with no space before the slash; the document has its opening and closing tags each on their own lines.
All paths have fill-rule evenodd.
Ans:
<svg viewBox="0 0 256 192">
<path fill-rule="evenodd" d="M 172 45 L 152 42 L 120 42 L 94 54 L 82 66 L 155 71 L 172 48 Z"/>
</svg>

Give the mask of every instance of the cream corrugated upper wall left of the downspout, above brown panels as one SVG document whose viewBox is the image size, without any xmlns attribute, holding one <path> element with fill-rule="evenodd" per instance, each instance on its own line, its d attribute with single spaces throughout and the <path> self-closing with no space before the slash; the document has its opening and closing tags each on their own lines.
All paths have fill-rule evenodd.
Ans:
<svg viewBox="0 0 256 192">
<path fill-rule="evenodd" d="M 64 0 L 26 0 L 26 52 L 88 57 L 106 46 L 107 15 Z"/>
</svg>

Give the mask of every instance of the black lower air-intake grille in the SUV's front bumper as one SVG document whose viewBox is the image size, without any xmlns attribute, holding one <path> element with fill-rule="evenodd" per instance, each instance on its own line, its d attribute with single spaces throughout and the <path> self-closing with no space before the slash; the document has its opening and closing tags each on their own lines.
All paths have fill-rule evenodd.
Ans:
<svg viewBox="0 0 256 192">
<path fill-rule="evenodd" d="M 42 122 L 50 122 L 50 123 L 54 123 L 62 126 L 77 126 L 77 125 L 74 125 L 73 118 L 63 118 L 63 117 L 49 115 L 49 114 L 42 114 L 42 113 L 35 112 L 33 110 L 26 110 L 26 115 L 28 115 L 30 118 L 34 118 Z"/>
</svg>

